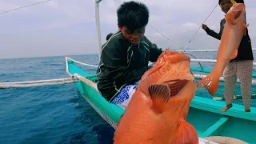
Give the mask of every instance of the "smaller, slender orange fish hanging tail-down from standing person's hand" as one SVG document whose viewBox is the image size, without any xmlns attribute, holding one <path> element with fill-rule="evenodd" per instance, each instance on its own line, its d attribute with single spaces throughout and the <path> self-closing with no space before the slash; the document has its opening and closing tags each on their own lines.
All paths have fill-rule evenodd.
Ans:
<svg viewBox="0 0 256 144">
<path fill-rule="evenodd" d="M 245 5 L 231 0 L 233 6 L 226 14 L 226 24 L 222 33 L 221 43 L 218 47 L 217 62 L 214 69 L 206 78 L 202 78 L 198 85 L 206 87 L 210 95 L 218 90 L 219 78 L 231 59 L 238 55 L 238 47 L 243 35 L 246 35 Z"/>
</svg>

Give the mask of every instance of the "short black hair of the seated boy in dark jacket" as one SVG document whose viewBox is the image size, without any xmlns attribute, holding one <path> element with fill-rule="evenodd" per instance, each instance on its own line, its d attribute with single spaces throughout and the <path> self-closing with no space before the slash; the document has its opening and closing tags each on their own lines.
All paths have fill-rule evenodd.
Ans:
<svg viewBox="0 0 256 144">
<path fill-rule="evenodd" d="M 146 26 L 149 22 L 149 10 L 141 2 L 123 2 L 117 10 L 118 25 L 127 26 L 130 30 L 136 30 Z"/>
</svg>

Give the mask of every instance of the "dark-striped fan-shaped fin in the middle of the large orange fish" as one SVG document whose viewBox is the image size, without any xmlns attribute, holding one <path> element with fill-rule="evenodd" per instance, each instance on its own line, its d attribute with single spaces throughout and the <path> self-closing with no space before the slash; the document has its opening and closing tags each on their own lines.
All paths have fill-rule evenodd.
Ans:
<svg viewBox="0 0 256 144">
<path fill-rule="evenodd" d="M 166 103 L 170 99 L 170 89 L 164 84 L 154 84 L 149 87 L 150 98 L 152 99 L 154 109 L 158 113 L 166 110 Z"/>
</svg>

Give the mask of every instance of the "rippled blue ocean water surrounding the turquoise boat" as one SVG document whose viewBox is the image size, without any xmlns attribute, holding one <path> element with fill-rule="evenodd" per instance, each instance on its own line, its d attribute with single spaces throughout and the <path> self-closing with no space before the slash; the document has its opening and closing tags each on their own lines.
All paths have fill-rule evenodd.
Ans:
<svg viewBox="0 0 256 144">
<path fill-rule="evenodd" d="M 210 52 L 194 55 L 216 57 Z M 98 65 L 96 54 L 68 57 Z M 199 66 L 196 62 L 191 65 Z M 203 66 L 212 68 L 214 64 L 203 63 Z M 96 73 L 94 67 L 82 67 L 90 74 Z M 0 59 L 0 82 L 54 78 L 68 78 L 65 56 Z M 221 97 L 222 84 L 219 89 L 217 95 Z M 212 98 L 206 90 L 198 90 L 198 94 Z M 241 94 L 238 85 L 235 94 Z M 239 99 L 234 102 L 242 104 Z M 254 99 L 252 106 L 256 106 Z M 0 143 L 108 144 L 113 143 L 113 136 L 114 129 L 82 98 L 74 84 L 0 90 Z"/>
</svg>

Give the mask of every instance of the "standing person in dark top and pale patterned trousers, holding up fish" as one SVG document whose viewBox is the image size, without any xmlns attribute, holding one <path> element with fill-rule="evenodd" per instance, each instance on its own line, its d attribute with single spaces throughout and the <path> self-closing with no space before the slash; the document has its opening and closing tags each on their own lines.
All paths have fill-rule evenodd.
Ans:
<svg viewBox="0 0 256 144">
<path fill-rule="evenodd" d="M 237 2 L 244 3 L 243 0 Z M 230 7 L 232 6 L 230 0 L 219 0 L 218 4 L 225 14 L 230 10 Z M 202 29 L 206 30 L 208 35 L 220 40 L 225 23 L 226 20 L 223 18 L 220 22 L 219 33 L 214 32 L 214 30 L 210 30 L 205 24 L 202 24 Z M 252 52 L 250 36 L 248 34 L 248 29 L 246 28 L 246 35 L 242 37 L 242 41 L 238 47 L 238 56 L 230 60 L 230 63 L 226 66 L 226 69 L 223 72 L 225 82 L 224 97 L 226 98 L 226 107 L 221 110 L 222 112 L 226 112 L 226 110 L 229 110 L 232 107 L 234 88 L 237 78 L 239 78 L 241 82 L 240 87 L 242 90 L 242 100 L 245 106 L 245 111 L 250 112 L 253 60 L 254 56 Z"/>
</svg>

